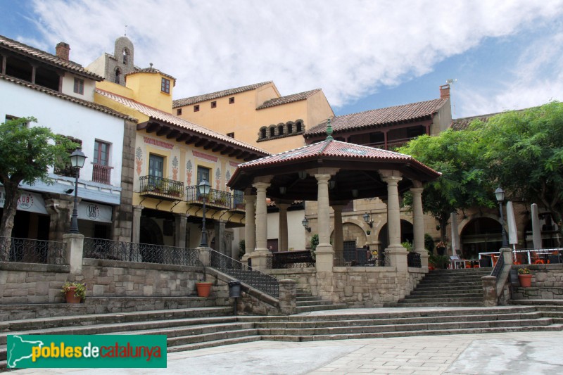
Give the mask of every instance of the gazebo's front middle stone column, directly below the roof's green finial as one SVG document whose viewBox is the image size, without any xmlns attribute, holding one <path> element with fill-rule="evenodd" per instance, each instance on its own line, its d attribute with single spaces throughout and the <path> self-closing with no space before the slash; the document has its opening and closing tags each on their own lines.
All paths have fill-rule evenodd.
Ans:
<svg viewBox="0 0 563 375">
<path fill-rule="evenodd" d="M 317 245 L 317 272 L 332 272 L 334 250 L 330 244 L 329 179 L 330 174 L 315 174 L 317 179 L 317 222 L 319 244 Z"/>
</svg>

